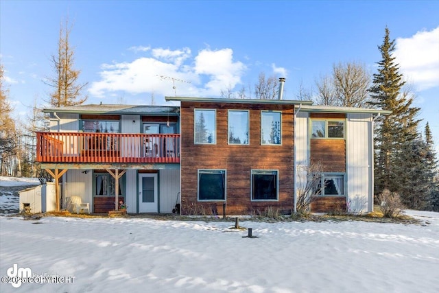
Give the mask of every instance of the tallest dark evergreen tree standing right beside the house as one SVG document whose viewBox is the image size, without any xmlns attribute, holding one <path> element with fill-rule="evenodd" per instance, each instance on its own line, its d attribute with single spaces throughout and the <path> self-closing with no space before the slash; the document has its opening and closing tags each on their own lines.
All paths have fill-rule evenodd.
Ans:
<svg viewBox="0 0 439 293">
<path fill-rule="evenodd" d="M 382 60 L 378 62 L 378 73 L 373 75 L 370 87 L 370 106 L 391 110 L 377 123 L 375 140 L 375 191 L 383 189 L 400 191 L 407 182 L 399 177 L 399 165 L 403 149 L 414 148 L 413 141 L 419 138 L 416 120 L 419 108 L 413 107 L 413 95 L 404 91 L 403 75 L 399 73 L 399 65 L 392 56 L 394 40 L 390 40 L 390 32 L 385 28 L 383 45 L 379 46 Z M 410 162 L 409 162 L 410 163 Z"/>
</svg>

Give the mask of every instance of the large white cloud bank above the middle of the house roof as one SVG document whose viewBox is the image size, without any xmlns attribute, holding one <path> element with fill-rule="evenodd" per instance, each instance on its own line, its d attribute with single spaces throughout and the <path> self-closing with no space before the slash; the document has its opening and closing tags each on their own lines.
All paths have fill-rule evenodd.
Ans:
<svg viewBox="0 0 439 293">
<path fill-rule="evenodd" d="M 95 97 L 110 97 L 118 91 L 133 95 L 211 95 L 241 82 L 246 66 L 233 61 L 232 49 L 203 49 L 195 58 L 191 50 L 154 48 L 149 57 L 132 62 L 113 62 L 102 65 L 101 79 L 88 90 Z M 203 80 L 203 82 L 200 82 Z"/>
</svg>

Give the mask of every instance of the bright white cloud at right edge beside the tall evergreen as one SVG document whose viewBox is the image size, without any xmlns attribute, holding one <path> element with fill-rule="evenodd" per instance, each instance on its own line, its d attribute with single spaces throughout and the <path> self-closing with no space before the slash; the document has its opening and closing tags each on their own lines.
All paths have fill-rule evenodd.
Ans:
<svg viewBox="0 0 439 293">
<path fill-rule="evenodd" d="M 394 56 L 401 72 L 422 91 L 439 86 L 439 27 L 397 38 Z"/>
</svg>

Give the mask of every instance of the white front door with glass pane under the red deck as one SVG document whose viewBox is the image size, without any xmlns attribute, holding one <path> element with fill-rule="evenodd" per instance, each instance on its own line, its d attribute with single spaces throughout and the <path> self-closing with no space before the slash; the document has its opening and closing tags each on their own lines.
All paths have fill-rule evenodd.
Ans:
<svg viewBox="0 0 439 293">
<path fill-rule="evenodd" d="M 139 213 L 158 213 L 157 174 L 139 174 Z"/>
</svg>

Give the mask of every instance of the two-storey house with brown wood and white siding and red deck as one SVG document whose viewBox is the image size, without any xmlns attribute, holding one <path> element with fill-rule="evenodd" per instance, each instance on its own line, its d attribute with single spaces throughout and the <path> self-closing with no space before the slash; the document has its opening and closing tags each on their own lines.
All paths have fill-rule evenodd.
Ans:
<svg viewBox="0 0 439 293">
<path fill-rule="evenodd" d="M 166 97 L 180 106 L 48 108 L 37 160 L 94 213 L 244 215 L 296 210 L 303 169 L 322 166 L 313 212 L 373 209 L 373 124 L 388 111 L 286 99 Z M 226 209 L 223 211 L 223 209 Z"/>
</svg>

